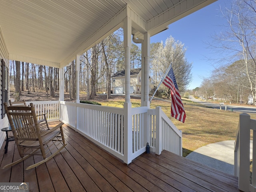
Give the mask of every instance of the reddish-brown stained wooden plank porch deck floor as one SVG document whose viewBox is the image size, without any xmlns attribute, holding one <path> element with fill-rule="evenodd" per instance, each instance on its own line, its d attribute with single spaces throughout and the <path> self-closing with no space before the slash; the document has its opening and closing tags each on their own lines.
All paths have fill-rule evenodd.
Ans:
<svg viewBox="0 0 256 192">
<path fill-rule="evenodd" d="M 29 182 L 30 191 L 228 191 L 238 190 L 238 178 L 163 151 L 142 154 L 128 166 L 88 139 L 64 126 L 67 146 L 48 162 L 24 170 L 41 160 L 35 156 L 12 168 L 0 169 L 0 182 Z M 19 158 L 15 142 L 0 149 L 0 167 Z"/>
</svg>

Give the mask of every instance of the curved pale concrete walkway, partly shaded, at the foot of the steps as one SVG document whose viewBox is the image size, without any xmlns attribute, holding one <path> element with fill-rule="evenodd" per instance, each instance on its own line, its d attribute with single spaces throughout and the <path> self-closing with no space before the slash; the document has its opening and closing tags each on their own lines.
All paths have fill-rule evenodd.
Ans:
<svg viewBox="0 0 256 192">
<path fill-rule="evenodd" d="M 234 175 L 234 142 L 231 140 L 208 144 L 194 150 L 186 158 Z M 250 159 L 252 159 L 252 140 Z"/>
</svg>

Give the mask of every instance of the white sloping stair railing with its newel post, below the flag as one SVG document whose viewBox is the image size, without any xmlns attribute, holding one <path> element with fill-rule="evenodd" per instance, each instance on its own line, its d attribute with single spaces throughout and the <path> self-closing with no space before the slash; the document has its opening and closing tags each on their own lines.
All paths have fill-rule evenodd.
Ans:
<svg viewBox="0 0 256 192">
<path fill-rule="evenodd" d="M 162 111 L 161 107 L 148 110 L 150 127 L 150 146 L 156 154 L 167 150 L 182 156 L 182 132 Z"/>
</svg>

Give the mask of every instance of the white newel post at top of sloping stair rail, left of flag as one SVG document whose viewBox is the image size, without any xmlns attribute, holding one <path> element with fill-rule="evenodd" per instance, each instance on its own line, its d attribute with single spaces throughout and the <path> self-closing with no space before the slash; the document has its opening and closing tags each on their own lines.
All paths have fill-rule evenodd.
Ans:
<svg viewBox="0 0 256 192">
<path fill-rule="evenodd" d="M 156 107 L 156 154 L 162 152 L 162 118 L 160 116 L 161 107 Z"/>
</svg>

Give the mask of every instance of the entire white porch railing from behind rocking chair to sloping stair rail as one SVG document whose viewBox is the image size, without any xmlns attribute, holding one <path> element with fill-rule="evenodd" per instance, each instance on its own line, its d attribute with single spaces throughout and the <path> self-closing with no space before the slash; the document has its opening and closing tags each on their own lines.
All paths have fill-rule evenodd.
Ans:
<svg viewBox="0 0 256 192">
<path fill-rule="evenodd" d="M 27 102 L 29 104 L 30 102 Z M 129 164 L 150 150 L 168 150 L 182 156 L 182 133 L 160 107 L 114 108 L 64 101 L 32 102 L 37 114 L 61 120 L 80 134 Z"/>
</svg>

